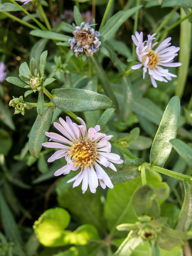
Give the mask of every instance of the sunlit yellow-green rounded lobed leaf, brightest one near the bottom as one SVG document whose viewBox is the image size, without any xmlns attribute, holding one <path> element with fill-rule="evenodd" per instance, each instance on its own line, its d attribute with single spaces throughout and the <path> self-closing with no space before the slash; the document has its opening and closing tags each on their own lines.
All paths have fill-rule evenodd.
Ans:
<svg viewBox="0 0 192 256">
<path fill-rule="evenodd" d="M 90 224 L 79 226 L 74 232 L 65 230 L 70 214 L 62 208 L 46 210 L 34 223 L 35 234 L 44 246 L 57 247 L 66 244 L 87 244 L 90 239 L 99 240 L 96 228 Z"/>
</svg>

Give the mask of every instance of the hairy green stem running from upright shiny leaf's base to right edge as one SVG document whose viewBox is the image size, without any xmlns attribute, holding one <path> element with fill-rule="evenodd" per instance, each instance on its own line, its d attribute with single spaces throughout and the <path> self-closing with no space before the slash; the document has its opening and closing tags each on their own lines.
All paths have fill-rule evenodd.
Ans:
<svg viewBox="0 0 192 256">
<path fill-rule="evenodd" d="M 177 180 L 181 180 L 181 181 L 188 181 L 188 182 L 192 182 L 192 177 L 191 176 L 188 176 L 188 175 L 185 175 L 185 174 L 180 174 L 178 172 L 173 172 L 173 171 L 170 171 L 168 169 L 164 169 L 162 167 L 158 167 L 158 166 L 150 166 L 149 163 L 145 163 L 145 167 L 149 170 L 154 170 L 156 172 L 160 172 L 162 174 L 165 174 L 167 176 L 170 176 L 172 178 L 175 178 Z"/>
</svg>

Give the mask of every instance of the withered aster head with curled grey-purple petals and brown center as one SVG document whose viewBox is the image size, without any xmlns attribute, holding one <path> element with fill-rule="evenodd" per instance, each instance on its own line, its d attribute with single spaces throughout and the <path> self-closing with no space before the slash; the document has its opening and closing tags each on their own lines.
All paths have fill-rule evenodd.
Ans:
<svg viewBox="0 0 192 256">
<path fill-rule="evenodd" d="M 95 31 L 93 26 L 82 22 L 80 26 L 76 26 L 73 31 L 74 37 L 69 39 L 71 50 L 74 50 L 76 57 L 80 52 L 85 52 L 87 56 L 93 56 L 94 52 L 99 50 L 101 42 L 99 41 L 100 32 Z"/>
</svg>

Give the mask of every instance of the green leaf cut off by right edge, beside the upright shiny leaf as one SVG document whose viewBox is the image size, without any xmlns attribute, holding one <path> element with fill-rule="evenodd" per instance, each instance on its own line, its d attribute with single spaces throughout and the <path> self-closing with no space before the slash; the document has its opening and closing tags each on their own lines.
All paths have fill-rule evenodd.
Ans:
<svg viewBox="0 0 192 256">
<path fill-rule="evenodd" d="M 190 168 L 192 168 L 192 149 L 182 140 L 170 140 L 174 149 L 185 160 Z"/>
</svg>

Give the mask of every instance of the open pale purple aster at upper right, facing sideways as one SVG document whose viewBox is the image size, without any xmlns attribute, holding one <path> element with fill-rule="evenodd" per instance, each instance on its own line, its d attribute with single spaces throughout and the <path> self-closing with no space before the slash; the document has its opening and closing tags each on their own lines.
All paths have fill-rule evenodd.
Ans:
<svg viewBox="0 0 192 256">
<path fill-rule="evenodd" d="M 138 60 L 141 64 L 132 66 L 132 69 L 143 68 L 143 79 L 145 78 L 145 73 L 149 72 L 151 77 L 151 82 L 154 87 L 157 87 L 156 81 L 168 82 L 167 80 L 172 80 L 172 77 L 177 77 L 174 74 L 169 73 L 168 69 L 164 69 L 160 66 L 165 67 L 178 67 L 182 65 L 180 62 L 173 62 L 173 59 L 178 54 L 180 47 L 170 46 L 171 37 L 166 38 L 155 50 L 152 50 L 158 42 L 152 44 L 155 39 L 155 35 L 148 35 L 148 40 L 143 42 L 143 32 L 140 34 L 136 31 L 136 36 L 132 35 L 132 40 L 136 47 L 136 54 L 138 55 Z M 170 46 L 170 47 L 168 47 Z M 167 79 L 167 80 L 166 80 Z"/>
</svg>

